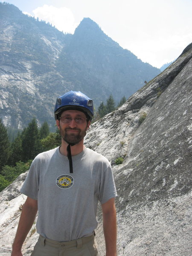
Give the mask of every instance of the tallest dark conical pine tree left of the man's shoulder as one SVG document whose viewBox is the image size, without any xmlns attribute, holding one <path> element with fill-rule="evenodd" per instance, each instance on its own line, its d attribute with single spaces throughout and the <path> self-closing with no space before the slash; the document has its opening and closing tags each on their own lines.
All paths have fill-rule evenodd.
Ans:
<svg viewBox="0 0 192 256">
<path fill-rule="evenodd" d="M 38 125 L 35 118 L 22 133 L 23 162 L 34 159 L 41 152 L 41 143 Z"/>
</svg>

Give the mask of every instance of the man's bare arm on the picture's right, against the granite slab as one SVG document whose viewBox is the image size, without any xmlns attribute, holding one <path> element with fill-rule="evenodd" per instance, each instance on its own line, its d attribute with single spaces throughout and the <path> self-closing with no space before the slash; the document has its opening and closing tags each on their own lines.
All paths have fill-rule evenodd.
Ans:
<svg viewBox="0 0 192 256">
<path fill-rule="evenodd" d="M 106 256 L 116 256 L 116 208 L 115 198 L 102 204 L 103 231 L 105 236 Z"/>
</svg>

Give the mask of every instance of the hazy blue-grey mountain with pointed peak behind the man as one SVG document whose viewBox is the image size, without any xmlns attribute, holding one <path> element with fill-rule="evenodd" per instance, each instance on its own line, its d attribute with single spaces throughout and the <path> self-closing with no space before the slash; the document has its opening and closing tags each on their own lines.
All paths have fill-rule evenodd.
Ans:
<svg viewBox="0 0 192 256">
<path fill-rule="evenodd" d="M 0 118 L 23 129 L 35 117 L 55 131 L 55 100 L 80 90 L 99 106 L 113 94 L 128 98 L 160 70 L 105 35 L 85 18 L 65 35 L 15 6 L 0 3 Z"/>
</svg>

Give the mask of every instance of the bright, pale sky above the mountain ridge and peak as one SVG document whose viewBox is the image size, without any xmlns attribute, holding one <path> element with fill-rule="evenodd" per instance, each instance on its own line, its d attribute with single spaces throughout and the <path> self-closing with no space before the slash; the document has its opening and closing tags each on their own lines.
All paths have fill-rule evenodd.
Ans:
<svg viewBox="0 0 192 256">
<path fill-rule="evenodd" d="M 192 42 L 192 0 L 1 0 L 73 34 L 84 17 L 154 67 L 174 61 Z"/>
</svg>

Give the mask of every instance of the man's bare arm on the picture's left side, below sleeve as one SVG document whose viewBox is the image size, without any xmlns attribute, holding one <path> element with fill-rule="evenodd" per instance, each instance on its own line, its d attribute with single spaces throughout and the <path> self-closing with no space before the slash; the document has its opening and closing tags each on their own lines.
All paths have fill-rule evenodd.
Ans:
<svg viewBox="0 0 192 256">
<path fill-rule="evenodd" d="M 27 197 L 25 203 L 23 204 L 22 212 L 20 215 L 20 221 L 17 227 L 15 241 L 12 245 L 11 256 L 22 256 L 21 247 L 34 223 L 37 211 L 38 201 Z"/>
</svg>

